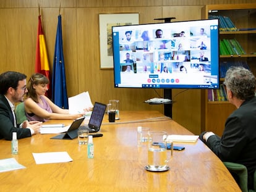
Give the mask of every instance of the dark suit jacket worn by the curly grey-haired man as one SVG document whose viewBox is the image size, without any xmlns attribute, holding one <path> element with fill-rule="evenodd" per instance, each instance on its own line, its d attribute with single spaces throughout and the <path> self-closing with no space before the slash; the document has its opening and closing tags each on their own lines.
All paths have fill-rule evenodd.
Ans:
<svg viewBox="0 0 256 192">
<path fill-rule="evenodd" d="M 256 169 L 256 98 L 244 101 L 229 115 L 222 137 L 210 136 L 206 144 L 221 161 L 245 165 L 252 188 Z"/>
</svg>

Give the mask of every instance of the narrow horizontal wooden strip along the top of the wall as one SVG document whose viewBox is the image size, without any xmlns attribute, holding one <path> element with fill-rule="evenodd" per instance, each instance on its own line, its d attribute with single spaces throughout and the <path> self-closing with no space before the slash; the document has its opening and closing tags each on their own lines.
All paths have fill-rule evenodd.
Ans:
<svg viewBox="0 0 256 192">
<path fill-rule="evenodd" d="M 145 6 L 198 6 L 206 4 L 250 3 L 255 0 L 0 0 L 0 7 L 145 7 Z"/>
</svg>

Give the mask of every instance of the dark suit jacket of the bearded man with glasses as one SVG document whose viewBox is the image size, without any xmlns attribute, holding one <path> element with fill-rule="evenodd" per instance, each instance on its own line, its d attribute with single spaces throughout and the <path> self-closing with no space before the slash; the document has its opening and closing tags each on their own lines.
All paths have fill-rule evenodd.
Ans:
<svg viewBox="0 0 256 192">
<path fill-rule="evenodd" d="M 19 125 L 17 125 L 19 127 Z M 29 128 L 15 128 L 12 109 L 6 97 L 0 94 L 0 139 L 12 140 L 12 132 L 17 132 L 17 138 L 31 136 Z"/>
</svg>

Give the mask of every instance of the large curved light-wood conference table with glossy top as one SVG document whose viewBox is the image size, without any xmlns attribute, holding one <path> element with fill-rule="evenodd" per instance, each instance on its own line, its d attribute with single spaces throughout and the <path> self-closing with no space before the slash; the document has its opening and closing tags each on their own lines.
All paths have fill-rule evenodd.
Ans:
<svg viewBox="0 0 256 192">
<path fill-rule="evenodd" d="M 148 172 L 147 150 L 137 147 L 137 127 L 192 135 L 178 123 L 156 111 L 121 111 L 120 120 L 108 123 L 105 115 L 93 138 L 94 159 L 87 146 L 74 140 L 52 140 L 55 134 L 33 135 L 19 140 L 19 154 L 11 154 L 11 141 L 0 140 L 0 159 L 14 157 L 25 169 L 0 173 L 0 191 L 240 191 L 223 163 L 201 141 L 175 143 L 167 172 Z M 71 120 L 47 123 L 70 124 Z M 67 151 L 72 162 L 36 164 L 32 152 Z"/>
</svg>

